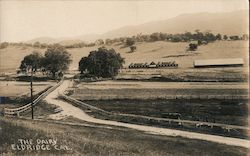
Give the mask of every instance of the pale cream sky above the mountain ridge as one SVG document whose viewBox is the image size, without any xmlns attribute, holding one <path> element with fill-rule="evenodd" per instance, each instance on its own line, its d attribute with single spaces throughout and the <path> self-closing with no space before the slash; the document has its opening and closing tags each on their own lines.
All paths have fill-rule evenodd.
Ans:
<svg viewBox="0 0 250 156">
<path fill-rule="evenodd" d="M 248 0 L 0 0 L 0 42 L 102 34 L 184 13 L 248 7 Z"/>
</svg>

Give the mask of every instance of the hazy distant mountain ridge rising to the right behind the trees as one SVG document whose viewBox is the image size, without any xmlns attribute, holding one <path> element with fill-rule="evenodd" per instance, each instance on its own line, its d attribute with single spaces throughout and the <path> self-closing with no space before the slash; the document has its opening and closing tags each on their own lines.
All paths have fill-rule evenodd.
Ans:
<svg viewBox="0 0 250 156">
<path fill-rule="evenodd" d="M 63 40 L 70 40 L 71 43 L 81 41 L 94 41 L 96 39 L 115 38 L 123 36 L 132 36 L 136 34 L 150 34 L 153 32 L 163 33 L 184 33 L 185 31 L 194 32 L 210 30 L 213 33 L 227 35 L 242 35 L 248 33 L 249 10 L 239 10 L 223 13 L 190 13 L 182 14 L 171 19 L 162 21 L 152 21 L 140 25 L 125 26 L 115 30 L 108 31 L 104 34 L 87 34 L 76 37 L 53 39 L 42 37 L 33 39 L 29 42 L 39 41 L 41 43 L 57 43 Z"/>
</svg>

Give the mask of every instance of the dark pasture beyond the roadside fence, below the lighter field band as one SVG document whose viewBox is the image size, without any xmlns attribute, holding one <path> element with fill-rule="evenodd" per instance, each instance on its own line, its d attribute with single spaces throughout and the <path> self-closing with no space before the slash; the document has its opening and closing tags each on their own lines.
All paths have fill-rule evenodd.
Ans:
<svg viewBox="0 0 250 156">
<path fill-rule="evenodd" d="M 114 113 L 166 117 L 180 113 L 181 119 L 247 126 L 246 100 L 88 100 L 84 101 Z"/>
</svg>

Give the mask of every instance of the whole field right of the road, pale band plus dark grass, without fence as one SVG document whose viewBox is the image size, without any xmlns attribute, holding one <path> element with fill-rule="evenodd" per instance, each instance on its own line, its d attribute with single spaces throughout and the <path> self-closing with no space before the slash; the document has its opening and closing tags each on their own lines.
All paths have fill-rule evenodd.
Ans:
<svg viewBox="0 0 250 156">
<path fill-rule="evenodd" d="M 141 81 L 101 81 L 79 83 L 71 88 L 71 96 L 83 102 L 113 113 L 135 114 L 150 117 L 169 118 L 169 113 L 180 113 L 181 119 L 206 121 L 232 125 L 248 125 L 248 101 L 227 99 L 228 97 L 247 96 L 247 83 L 235 82 L 141 82 Z M 169 99 L 187 96 L 191 99 Z M 177 97 L 178 97 L 177 96 Z M 225 99 L 207 97 L 222 96 Z M 193 97 L 205 97 L 194 99 Z M 221 128 L 196 129 L 194 126 L 176 127 L 165 122 L 152 122 L 105 116 L 89 112 L 97 118 L 121 122 L 184 129 L 225 135 L 248 137 L 245 131 L 230 132 Z"/>
</svg>

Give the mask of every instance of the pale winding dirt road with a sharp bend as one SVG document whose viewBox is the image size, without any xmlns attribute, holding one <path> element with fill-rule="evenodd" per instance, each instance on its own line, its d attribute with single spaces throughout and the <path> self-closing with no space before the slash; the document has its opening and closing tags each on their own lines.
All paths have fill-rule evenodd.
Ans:
<svg viewBox="0 0 250 156">
<path fill-rule="evenodd" d="M 129 123 L 122 123 L 122 122 L 117 122 L 117 121 L 109 121 L 109 120 L 101 120 L 101 119 L 93 118 L 87 115 L 83 110 L 71 105 L 70 103 L 57 99 L 58 93 L 59 92 L 62 93 L 63 91 L 65 91 L 69 86 L 72 85 L 72 83 L 73 82 L 70 80 L 65 80 L 61 86 L 59 86 L 55 91 L 50 93 L 45 98 L 45 100 L 48 103 L 57 105 L 61 107 L 63 110 L 60 113 L 51 115 L 50 117 L 52 119 L 60 120 L 62 118 L 65 118 L 66 116 L 73 116 L 75 118 L 78 118 L 87 122 L 91 122 L 91 123 L 127 127 L 127 128 L 140 130 L 146 133 L 151 133 L 151 134 L 167 135 L 167 136 L 181 136 L 181 137 L 190 138 L 190 139 L 206 140 L 206 141 L 212 141 L 212 142 L 217 142 L 217 143 L 222 143 L 222 144 L 227 144 L 227 145 L 241 146 L 245 148 L 250 147 L 250 141 L 245 140 L 245 139 L 222 137 L 222 136 L 216 136 L 216 135 L 201 134 L 201 133 L 173 130 L 173 129 L 167 129 L 167 128 L 158 128 L 158 127 L 152 127 L 152 126 L 143 126 L 143 125 L 136 125 L 136 124 L 129 124 Z"/>
</svg>

